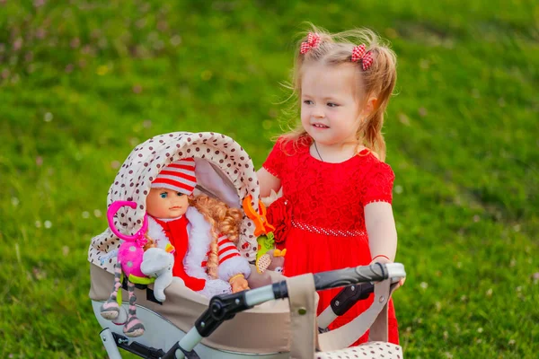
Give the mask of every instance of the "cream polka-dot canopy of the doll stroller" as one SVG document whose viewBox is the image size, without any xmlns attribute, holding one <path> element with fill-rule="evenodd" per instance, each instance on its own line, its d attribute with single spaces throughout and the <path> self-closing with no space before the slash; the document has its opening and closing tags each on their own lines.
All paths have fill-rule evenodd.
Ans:
<svg viewBox="0 0 539 359">
<path fill-rule="evenodd" d="M 194 157 L 197 188 L 195 195 L 206 194 L 223 200 L 228 206 L 241 208 L 244 197 L 252 196 L 257 210 L 259 187 L 251 157 L 232 138 L 214 132 L 174 132 L 150 138 L 129 153 L 109 189 L 107 207 L 114 201 L 134 201 L 137 208 L 123 206 L 115 217 L 115 226 L 124 234 L 133 235 L 142 226 L 146 214 L 146 196 L 152 181 L 169 163 Z M 238 250 L 254 260 L 257 250 L 254 224 L 245 215 L 240 228 Z M 113 273 L 116 258 L 106 258 L 119 248 L 119 238 L 110 231 L 93 237 L 88 260 Z M 106 258 L 106 260 L 102 260 Z"/>
</svg>

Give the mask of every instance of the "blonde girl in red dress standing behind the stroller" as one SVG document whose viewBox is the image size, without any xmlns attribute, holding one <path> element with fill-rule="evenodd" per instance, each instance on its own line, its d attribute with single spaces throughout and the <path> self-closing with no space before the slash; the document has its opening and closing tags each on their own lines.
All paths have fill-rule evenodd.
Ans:
<svg viewBox="0 0 539 359">
<path fill-rule="evenodd" d="M 330 34 L 314 28 L 298 44 L 293 91 L 301 121 L 279 137 L 258 171 L 261 196 L 282 187 L 268 218 L 287 248 L 285 276 L 393 261 L 394 175 L 384 163 L 382 126 L 395 61 L 393 51 L 368 30 Z M 319 312 L 336 293 L 319 293 Z M 358 302 L 332 328 L 371 302 Z M 389 340 L 399 342 L 393 302 Z"/>
</svg>

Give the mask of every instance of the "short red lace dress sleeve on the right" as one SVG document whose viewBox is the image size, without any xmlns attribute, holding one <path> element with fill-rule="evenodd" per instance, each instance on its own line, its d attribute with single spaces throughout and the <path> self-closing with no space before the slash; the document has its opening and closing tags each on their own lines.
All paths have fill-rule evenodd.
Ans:
<svg viewBox="0 0 539 359">
<path fill-rule="evenodd" d="M 376 163 L 365 178 L 362 198 L 363 206 L 367 206 L 373 202 L 387 202 L 391 204 L 393 200 L 394 180 L 395 174 L 387 163 Z"/>
</svg>

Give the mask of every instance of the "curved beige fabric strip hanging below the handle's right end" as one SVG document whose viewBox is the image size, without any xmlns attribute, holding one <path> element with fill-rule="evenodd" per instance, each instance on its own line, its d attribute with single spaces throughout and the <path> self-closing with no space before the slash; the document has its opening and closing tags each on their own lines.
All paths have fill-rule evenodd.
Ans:
<svg viewBox="0 0 539 359">
<path fill-rule="evenodd" d="M 364 311 L 344 326 L 319 335 L 318 344 L 320 350 L 333 351 L 351 346 L 373 325 L 381 312 L 383 315 L 380 320 L 384 320 L 384 323 L 376 324 L 376 333 L 383 332 L 385 326 L 385 337 L 387 338 L 387 311 L 385 311 L 384 317 L 383 310 L 389 301 L 390 285 L 391 280 L 389 279 L 376 283 L 375 299 L 367 311 Z"/>
</svg>

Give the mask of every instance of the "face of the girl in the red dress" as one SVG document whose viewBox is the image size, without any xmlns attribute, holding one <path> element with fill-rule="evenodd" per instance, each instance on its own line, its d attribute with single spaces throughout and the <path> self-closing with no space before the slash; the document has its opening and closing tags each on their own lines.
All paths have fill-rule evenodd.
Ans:
<svg viewBox="0 0 539 359">
<path fill-rule="evenodd" d="M 318 144 L 357 144 L 361 106 L 355 64 L 306 65 L 301 81 L 301 123 Z"/>
</svg>

